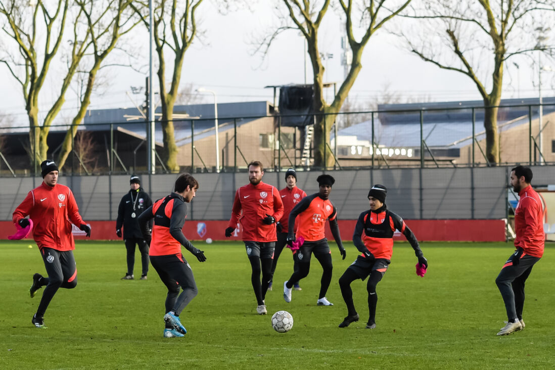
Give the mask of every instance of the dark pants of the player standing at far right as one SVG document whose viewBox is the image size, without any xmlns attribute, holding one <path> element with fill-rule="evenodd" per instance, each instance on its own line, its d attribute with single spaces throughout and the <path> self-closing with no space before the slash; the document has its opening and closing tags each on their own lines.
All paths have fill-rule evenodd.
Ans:
<svg viewBox="0 0 555 370">
<path fill-rule="evenodd" d="M 512 255 L 511 255 L 512 257 Z M 522 320 L 522 309 L 524 308 L 524 283 L 532 272 L 532 267 L 539 261 L 539 257 L 523 254 L 520 263 L 514 266 L 511 257 L 505 262 L 495 283 L 501 292 L 507 319 L 513 322 L 515 318 Z"/>
</svg>

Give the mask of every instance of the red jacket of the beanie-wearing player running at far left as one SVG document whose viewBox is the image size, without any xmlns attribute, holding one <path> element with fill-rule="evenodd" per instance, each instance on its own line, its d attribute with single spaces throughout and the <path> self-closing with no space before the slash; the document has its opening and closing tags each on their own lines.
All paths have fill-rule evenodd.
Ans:
<svg viewBox="0 0 555 370">
<path fill-rule="evenodd" d="M 60 184 L 50 186 L 43 182 L 29 191 L 13 212 L 12 221 L 16 223 L 26 216 L 33 220 L 33 238 L 39 249 L 75 249 L 71 222 L 75 226 L 84 222 L 69 187 Z"/>
</svg>

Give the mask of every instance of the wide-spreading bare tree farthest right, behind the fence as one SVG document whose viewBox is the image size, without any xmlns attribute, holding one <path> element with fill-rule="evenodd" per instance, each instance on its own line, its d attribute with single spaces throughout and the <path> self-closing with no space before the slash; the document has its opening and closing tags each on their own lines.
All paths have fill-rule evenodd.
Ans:
<svg viewBox="0 0 555 370">
<path fill-rule="evenodd" d="M 398 31 L 412 53 L 465 74 L 476 85 L 485 110 L 486 157 L 492 164 L 499 161 L 497 107 L 504 65 L 514 55 L 547 51 L 538 32 L 547 29 L 545 20 L 554 6 L 553 0 L 420 0 L 405 14 L 412 27 L 405 24 Z"/>
</svg>

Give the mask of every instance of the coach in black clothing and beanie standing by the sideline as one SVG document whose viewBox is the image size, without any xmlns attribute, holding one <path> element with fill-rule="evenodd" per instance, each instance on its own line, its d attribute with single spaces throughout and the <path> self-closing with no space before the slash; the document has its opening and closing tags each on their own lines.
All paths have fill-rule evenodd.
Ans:
<svg viewBox="0 0 555 370">
<path fill-rule="evenodd" d="M 144 212 L 145 209 L 152 206 L 152 200 L 147 192 L 140 187 L 139 176 L 132 175 L 129 180 L 131 189 L 125 194 L 122 201 L 119 202 L 118 219 L 115 222 L 115 234 L 122 237 L 127 249 L 127 273 L 122 280 L 133 280 L 133 267 L 135 265 L 135 244 L 139 246 L 141 261 L 143 263 L 143 273 L 141 280 L 147 279 L 148 273 L 148 243 L 144 240 L 140 230 L 137 217 Z M 152 225 L 149 225 L 152 229 Z"/>
</svg>

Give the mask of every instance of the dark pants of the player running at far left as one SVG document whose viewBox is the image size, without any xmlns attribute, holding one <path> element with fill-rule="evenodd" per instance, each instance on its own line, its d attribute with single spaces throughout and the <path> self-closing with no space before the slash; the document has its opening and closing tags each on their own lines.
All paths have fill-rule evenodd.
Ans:
<svg viewBox="0 0 555 370">
<path fill-rule="evenodd" d="M 46 285 L 46 288 L 44 288 L 41 303 L 37 308 L 37 317 L 44 316 L 44 312 L 59 288 L 72 289 L 77 286 L 77 267 L 73 251 L 43 248 L 41 255 L 48 277 L 43 277 L 41 280 L 42 285 Z"/>
</svg>

